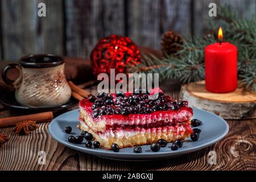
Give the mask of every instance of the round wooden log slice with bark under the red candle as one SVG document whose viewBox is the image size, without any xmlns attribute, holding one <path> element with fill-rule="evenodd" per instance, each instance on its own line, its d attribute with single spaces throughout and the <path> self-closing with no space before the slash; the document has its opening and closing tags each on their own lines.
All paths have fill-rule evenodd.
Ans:
<svg viewBox="0 0 256 182">
<path fill-rule="evenodd" d="M 204 81 L 191 82 L 181 86 L 180 98 L 224 119 L 256 118 L 256 94 L 241 88 L 230 93 L 212 93 L 205 89 Z"/>
</svg>

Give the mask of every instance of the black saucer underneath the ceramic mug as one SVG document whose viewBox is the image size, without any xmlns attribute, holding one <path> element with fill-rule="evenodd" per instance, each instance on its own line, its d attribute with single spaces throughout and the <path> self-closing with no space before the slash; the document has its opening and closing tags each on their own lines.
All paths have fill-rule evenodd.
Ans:
<svg viewBox="0 0 256 182">
<path fill-rule="evenodd" d="M 70 107 L 75 106 L 79 101 L 75 98 L 71 97 L 68 102 L 60 106 L 53 106 L 53 107 L 29 107 L 19 104 L 18 101 L 15 99 L 15 93 L 2 93 L 0 96 L 0 103 L 5 106 L 7 109 L 10 110 L 26 110 L 26 111 L 59 111 L 59 110 L 68 110 Z"/>
</svg>

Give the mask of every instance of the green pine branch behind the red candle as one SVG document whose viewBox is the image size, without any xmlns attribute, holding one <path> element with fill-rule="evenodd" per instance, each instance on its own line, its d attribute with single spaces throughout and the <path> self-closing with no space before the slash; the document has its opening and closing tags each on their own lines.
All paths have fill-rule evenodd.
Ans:
<svg viewBox="0 0 256 182">
<path fill-rule="evenodd" d="M 212 35 L 208 38 L 190 37 L 184 41 L 183 49 L 163 59 L 154 55 L 143 56 L 141 64 L 129 68 L 129 71 L 159 73 L 160 79 L 179 78 L 183 83 L 204 80 L 204 48 L 216 42 L 213 32 L 222 26 L 225 40 L 238 48 L 238 78 L 246 89 L 255 92 L 256 19 L 240 18 L 229 7 L 221 7 L 218 12 L 217 22 L 210 23 L 209 32 Z"/>
</svg>

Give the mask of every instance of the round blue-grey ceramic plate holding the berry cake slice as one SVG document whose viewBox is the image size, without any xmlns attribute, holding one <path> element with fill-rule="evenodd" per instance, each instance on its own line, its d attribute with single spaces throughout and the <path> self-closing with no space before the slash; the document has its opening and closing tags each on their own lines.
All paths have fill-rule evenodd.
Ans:
<svg viewBox="0 0 256 182">
<path fill-rule="evenodd" d="M 135 154 L 133 152 L 133 148 L 122 148 L 119 152 L 100 148 L 86 148 L 85 139 L 82 144 L 69 143 L 69 135 L 76 136 L 81 133 L 81 131 L 76 127 L 77 124 L 79 124 L 79 121 L 77 121 L 77 118 L 79 117 L 79 110 L 69 111 L 53 119 L 49 124 L 49 134 L 52 138 L 57 140 L 57 142 L 64 144 L 64 146 L 104 158 L 121 160 L 154 160 L 160 158 L 171 158 L 172 156 L 187 154 L 189 152 L 208 147 L 224 138 L 229 131 L 228 123 L 226 123 L 226 121 L 221 117 L 201 109 L 193 108 L 193 112 L 193 118 L 200 119 L 203 122 L 203 125 L 196 127 L 201 130 L 200 138 L 197 142 L 192 142 L 190 138 L 187 138 L 183 143 L 183 147 L 179 148 L 177 151 L 170 150 L 171 143 L 168 143 L 167 147 L 162 147 L 159 152 L 152 152 L 150 150 L 150 145 L 142 146 L 141 154 Z M 71 134 L 65 133 L 64 129 L 67 126 L 72 127 Z"/>
</svg>

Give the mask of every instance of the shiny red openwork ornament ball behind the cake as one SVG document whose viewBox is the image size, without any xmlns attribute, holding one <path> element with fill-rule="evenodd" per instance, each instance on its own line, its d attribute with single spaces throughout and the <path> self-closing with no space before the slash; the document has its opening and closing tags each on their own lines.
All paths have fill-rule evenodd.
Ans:
<svg viewBox="0 0 256 182">
<path fill-rule="evenodd" d="M 110 74 L 110 69 L 115 69 L 115 74 L 126 73 L 126 65 L 140 63 L 141 54 L 138 47 L 131 39 L 110 35 L 101 39 L 93 49 L 90 60 L 93 73 L 98 76 L 100 73 Z"/>
</svg>

